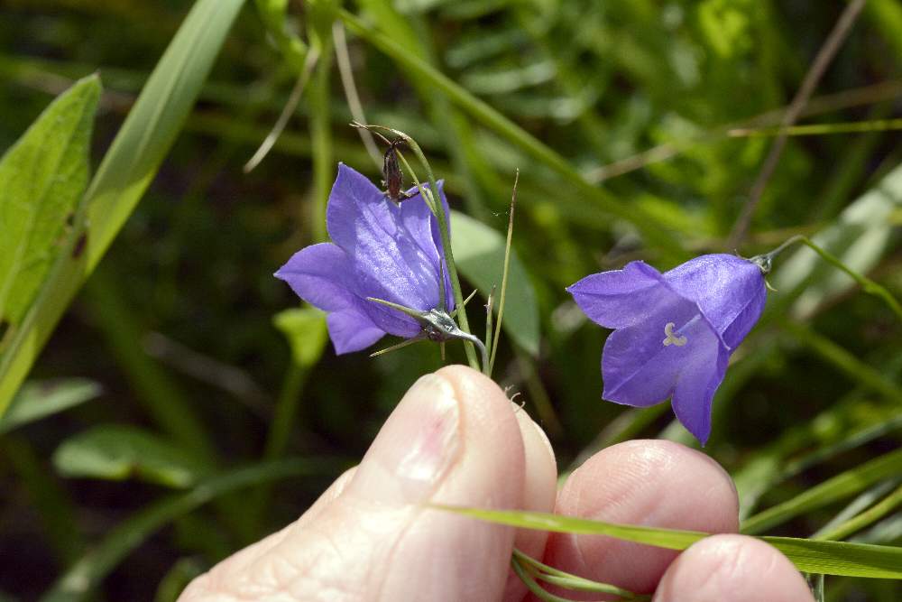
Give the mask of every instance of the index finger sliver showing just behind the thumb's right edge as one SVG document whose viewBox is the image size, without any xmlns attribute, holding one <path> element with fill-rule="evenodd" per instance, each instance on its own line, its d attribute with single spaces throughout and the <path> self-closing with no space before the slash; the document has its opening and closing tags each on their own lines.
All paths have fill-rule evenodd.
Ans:
<svg viewBox="0 0 902 602">
<path fill-rule="evenodd" d="M 520 426 L 523 449 L 526 455 L 526 481 L 523 492 L 523 510 L 551 512 L 557 497 L 557 463 L 545 431 L 529 418 L 519 405 L 513 404 L 514 415 Z M 535 529 L 518 529 L 514 547 L 532 558 L 541 559 L 548 541 L 548 532 Z M 513 572 L 508 571 L 508 581 L 502 600 L 513 602 L 523 599 L 526 586 Z"/>
</svg>

